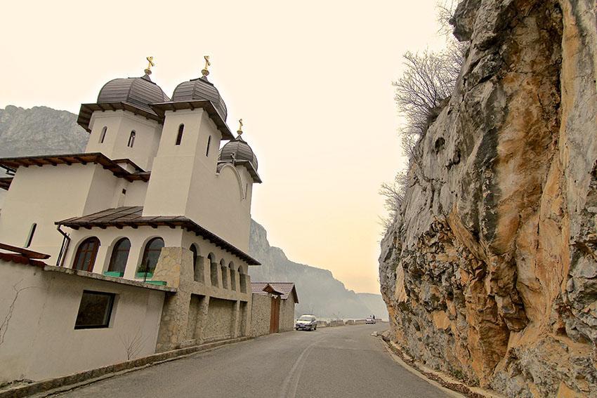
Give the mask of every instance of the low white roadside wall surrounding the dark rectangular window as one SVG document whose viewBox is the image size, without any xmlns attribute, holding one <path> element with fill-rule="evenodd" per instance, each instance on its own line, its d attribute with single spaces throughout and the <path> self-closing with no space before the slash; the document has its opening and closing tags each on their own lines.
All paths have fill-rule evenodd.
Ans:
<svg viewBox="0 0 597 398">
<path fill-rule="evenodd" d="M 65 376 L 126 361 L 125 343 L 140 334 L 136 357 L 155 352 L 164 292 L 41 270 L 0 260 L 0 315 L 15 301 L 0 343 L 0 384 Z M 84 290 L 115 293 L 110 327 L 74 329 Z"/>
</svg>

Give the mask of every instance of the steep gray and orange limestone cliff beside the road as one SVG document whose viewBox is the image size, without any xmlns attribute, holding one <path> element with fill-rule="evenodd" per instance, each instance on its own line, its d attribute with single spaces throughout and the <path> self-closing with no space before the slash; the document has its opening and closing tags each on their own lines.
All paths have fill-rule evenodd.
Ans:
<svg viewBox="0 0 597 398">
<path fill-rule="evenodd" d="M 597 396 L 594 0 L 464 0 L 457 87 L 381 242 L 392 338 L 510 397 Z"/>
</svg>

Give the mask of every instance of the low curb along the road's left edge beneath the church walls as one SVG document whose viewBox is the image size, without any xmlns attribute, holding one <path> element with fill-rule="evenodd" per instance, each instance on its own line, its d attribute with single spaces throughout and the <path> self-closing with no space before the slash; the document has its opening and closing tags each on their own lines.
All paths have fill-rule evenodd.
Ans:
<svg viewBox="0 0 597 398">
<path fill-rule="evenodd" d="M 203 345 L 195 345 L 193 347 L 181 348 L 179 350 L 172 350 L 160 352 L 159 354 L 149 355 L 147 357 L 133 359 L 131 361 L 121 362 L 119 364 L 107 365 L 98 369 L 91 369 L 74 373 L 68 376 L 58 378 L 49 378 L 46 380 L 37 381 L 35 383 L 20 385 L 0 392 L 0 398 L 20 398 L 29 397 L 34 394 L 39 394 L 39 397 L 46 397 L 49 394 L 57 394 L 72 390 L 82 385 L 95 383 L 99 380 L 111 378 L 131 371 L 144 369 L 148 366 L 162 364 L 164 362 L 173 361 L 197 352 L 213 350 L 214 348 L 222 347 L 223 345 L 230 345 L 240 343 L 242 341 L 251 340 L 252 337 L 233 338 L 230 340 L 222 340 L 214 343 L 206 343 Z"/>
</svg>

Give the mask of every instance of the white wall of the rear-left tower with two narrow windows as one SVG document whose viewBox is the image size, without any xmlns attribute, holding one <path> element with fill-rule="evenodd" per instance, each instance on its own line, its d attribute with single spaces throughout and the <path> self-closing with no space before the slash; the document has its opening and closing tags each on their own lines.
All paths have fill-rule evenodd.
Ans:
<svg viewBox="0 0 597 398">
<path fill-rule="evenodd" d="M 96 111 L 91 115 L 91 135 L 85 152 L 102 152 L 110 159 L 131 159 L 149 171 L 157 153 L 162 125 L 124 110 Z M 104 142 L 101 132 L 107 127 Z M 131 131 L 135 131 L 133 147 L 128 147 Z"/>
</svg>

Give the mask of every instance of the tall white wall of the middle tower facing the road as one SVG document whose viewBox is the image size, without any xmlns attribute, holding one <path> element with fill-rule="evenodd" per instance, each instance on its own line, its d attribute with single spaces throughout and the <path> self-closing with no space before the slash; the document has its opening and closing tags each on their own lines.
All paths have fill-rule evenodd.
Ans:
<svg viewBox="0 0 597 398">
<path fill-rule="evenodd" d="M 178 126 L 185 124 L 181 145 Z M 211 136 L 209 156 L 206 143 Z M 203 110 L 166 112 L 162 140 L 147 187 L 144 215 L 185 215 L 242 251 L 249 250 L 251 188 L 244 168 L 216 173 L 221 133 Z"/>
</svg>

